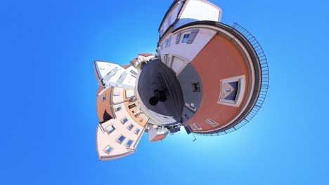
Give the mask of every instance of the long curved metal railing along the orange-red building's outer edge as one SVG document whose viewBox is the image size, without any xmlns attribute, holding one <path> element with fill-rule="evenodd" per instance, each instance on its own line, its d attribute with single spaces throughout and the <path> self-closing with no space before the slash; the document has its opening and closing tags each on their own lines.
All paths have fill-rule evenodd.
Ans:
<svg viewBox="0 0 329 185">
<path fill-rule="evenodd" d="M 254 52 L 257 53 L 258 59 L 259 59 L 259 65 L 262 69 L 262 83 L 260 92 L 257 98 L 256 104 L 254 104 L 254 107 L 250 111 L 245 118 L 243 118 L 243 121 L 240 121 L 237 125 L 233 126 L 232 128 L 228 128 L 227 130 L 224 130 L 222 132 L 218 133 L 212 133 L 212 134 L 203 134 L 203 133 L 194 133 L 195 135 L 205 135 L 205 136 L 216 136 L 216 135 L 226 135 L 230 132 L 236 131 L 239 128 L 242 128 L 245 124 L 249 123 L 252 118 L 257 114 L 259 109 L 262 108 L 262 104 L 264 103 L 264 100 L 266 98 L 267 90 L 269 89 L 269 65 L 267 64 L 267 58 L 265 56 L 264 50 L 262 46 L 260 46 L 257 39 L 250 34 L 250 32 L 247 31 L 244 27 L 238 25 L 238 23 L 234 22 L 232 25 L 233 29 L 236 29 L 236 31 L 240 32 L 247 41 L 249 41 L 252 48 L 254 48 Z"/>
</svg>

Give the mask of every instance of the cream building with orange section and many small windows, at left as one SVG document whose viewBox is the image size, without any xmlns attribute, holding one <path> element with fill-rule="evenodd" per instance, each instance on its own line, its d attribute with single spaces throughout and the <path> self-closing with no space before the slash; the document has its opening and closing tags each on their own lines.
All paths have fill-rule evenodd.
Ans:
<svg viewBox="0 0 329 185">
<path fill-rule="evenodd" d="M 111 64 L 110 62 L 102 62 Z M 110 160 L 127 156 L 136 151 L 141 136 L 148 123 L 136 101 L 134 88 L 117 88 L 104 86 L 104 82 L 95 70 L 100 86 L 97 95 L 98 127 L 96 131 L 96 148 L 100 160 Z M 117 66 L 115 66 L 117 67 Z M 133 67 L 134 68 L 134 67 Z M 135 69 L 135 68 L 134 68 Z M 111 72 L 109 69 L 104 69 Z M 131 70 L 127 67 L 127 70 Z M 135 79 L 136 80 L 136 79 Z M 135 81 L 132 83 L 135 84 Z"/>
</svg>

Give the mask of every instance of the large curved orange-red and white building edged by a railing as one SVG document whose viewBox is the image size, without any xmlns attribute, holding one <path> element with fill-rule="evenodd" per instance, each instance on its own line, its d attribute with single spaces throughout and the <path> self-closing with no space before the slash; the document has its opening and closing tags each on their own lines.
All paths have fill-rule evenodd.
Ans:
<svg viewBox="0 0 329 185">
<path fill-rule="evenodd" d="M 217 13 L 207 20 L 193 15 L 181 24 L 186 11 L 200 4 Z M 262 107 L 269 85 L 262 47 L 240 25 L 215 21 L 221 19 L 216 7 L 209 1 L 174 1 L 159 27 L 159 59 L 174 71 L 183 92 L 181 122 L 203 135 L 245 125 Z"/>
</svg>

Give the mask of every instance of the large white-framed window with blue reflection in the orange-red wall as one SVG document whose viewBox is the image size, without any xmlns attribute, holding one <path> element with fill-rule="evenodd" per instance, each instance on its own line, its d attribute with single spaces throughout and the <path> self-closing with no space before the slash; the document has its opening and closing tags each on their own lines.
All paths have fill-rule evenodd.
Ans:
<svg viewBox="0 0 329 185">
<path fill-rule="evenodd" d="M 226 104 L 238 107 L 245 92 L 245 75 L 221 80 L 221 92 L 218 104 Z"/>
</svg>

